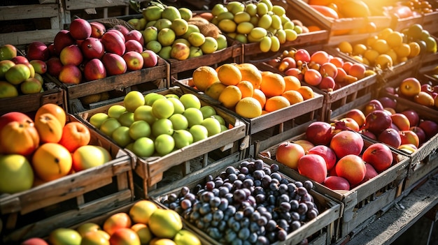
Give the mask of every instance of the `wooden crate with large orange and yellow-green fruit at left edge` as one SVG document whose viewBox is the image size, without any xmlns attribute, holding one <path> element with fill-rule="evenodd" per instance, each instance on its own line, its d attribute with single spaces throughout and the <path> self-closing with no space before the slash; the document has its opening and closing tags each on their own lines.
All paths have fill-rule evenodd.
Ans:
<svg viewBox="0 0 438 245">
<path fill-rule="evenodd" d="M 0 118 L 9 122 L 26 117 L 21 112 L 10 112 Z M 40 140 L 29 144 L 26 140 L 18 141 L 23 133 L 13 129 L 2 133 L 5 138 L 13 137 L 20 142 L 20 145 L 8 142 L 7 149 L 2 142 L 2 151 L 17 152 L 4 154 L 2 161 L 24 165 L 27 162 L 29 165 L 27 173 L 24 171 L 15 177 L 11 173 L 2 177 L 3 180 L 9 178 L 4 188 L 10 186 L 12 181 L 20 181 L 20 184 L 13 184 L 16 189 L 5 189 L 0 195 L 2 244 L 17 244 L 30 237 L 45 237 L 59 224 L 73 225 L 134 200 L 133 158 L 126 151 L 92 128 L 87 128 L 58 105 L 45 104 L 34 114 L 29 114 L 29 118 L 34 124 L 13 121 L 3 127 L 7 130 L 10 124 L 29 125 L 28 135 Z M 66 123 L 63 127 L 62 123 L 56 122 L 62 121 L 62 118 Z M 52 131 L 45 129 L 45 125 L 52 126 Z M 37 127 L 38 130 L 32 131 Z M 75 136 L 74 132 L 78 135 Z M 69 133 L 72 135 L 68 136 Z M 58 141 L 59 135 L 61 140 Z M 66 135 L 64 140 L 62 135 Z M 24 161 L 25 155 L 22 154 L 26 153 L 22 147 L 34 149 L 29 160 Z M 87 157 L 91 157 L 91 161 Z M 57 158 L 58 162 L 50 163 L 50 158 Z M 52 167 L 44 167 L 50 164 Z M 48 169 L 58 167 L 57 172 Z M 3 174 L 6 171 L 2 170 Z"/>
</svg>

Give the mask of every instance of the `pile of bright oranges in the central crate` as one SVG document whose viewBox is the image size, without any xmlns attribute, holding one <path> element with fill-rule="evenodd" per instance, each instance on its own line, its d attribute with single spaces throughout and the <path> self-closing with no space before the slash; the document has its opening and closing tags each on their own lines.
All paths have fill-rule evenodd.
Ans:
<svg viewBox="0 0 438 245">
<path fill-rule="evenodd" d="M 254 64 L 200 66 L 192 85 L 241 117 L 254 118 L 313 98 L 313 90 L 297 77 L 261 71 Z"/>
</svg>

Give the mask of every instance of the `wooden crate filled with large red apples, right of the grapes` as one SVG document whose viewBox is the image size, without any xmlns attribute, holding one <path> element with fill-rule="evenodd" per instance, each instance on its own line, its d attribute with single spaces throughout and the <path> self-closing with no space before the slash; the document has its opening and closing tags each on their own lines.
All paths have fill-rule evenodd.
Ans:
<svg viewBox="0 0 438 245">
<path fill-rule="evenodd" d="M 327 127 L 330 128 L 329 131 L 324 129 Z M 318 138 L 316 132 L 320 131 L 328 133 L 322 133 L 321 135 L 325 136 Z M 386 167 L 381 168 L 379 174 L 374 170 L 374 177 L 369 178 L 371 176 L 368 172 L 369 163 L 365 164 L 362 156 L 365 155 L 367 149 L 371 151 L 378 144 L 363 138 L 357 132 L 342 128 L 336 128 L 333 131 L 335 131 L 334 135 L 332 135 L 331 126 L 327 122 L 313 122 L 308 124 L 307 128 L 302 128 L 302 132 L 292 138 L 264 149 L 258 157 L 267 163 L 278 164 L 281 172 L 292 179 L 311 180 L 316 191 L 341 202 L 343 204 L 341 221 L 337 226 L 333 242 L 344 242 L 348 236 L 354 234 L 355 230 L 362 228 L 362 225 L 367 225 L 369 218 L 378 218 L 384 207 L 393 205 L 395 198 L 402 192 L 402 184 L 407 177 L 409 157 L 400 151 L 393 151 L 390 147 L 386 147 L 383 150 L 386 152 L 386 156 L 381 156 L 382 159 L 386 159 L 386 163 L 384 163 Z M 318 139 L 313 139 L 312 135 Z M 339 142 L 341 138 L 348 138 L 349 140 L 346 140 L 349 142 L 348 144 L 353 146 L 358 143 L 359 147 L 341 147 L 342 144 L 346 143 Z M 304 154 L 304 148 L 313 153 Z M 344 156 L 343 154 L 346 152 L 342 151 L 346 149 L 356 152 Z M 319 159 L 320 165 L 307 165 L 306 163 L 318 163 L 316 159 L 311 160 L 312 158 Z M 327 165 L 327 163 L 330 164 Z M 348 169 L 360 169 L 361 174 L 359 175 L 361 177 L 355 179 L 354 174 L 349 176 L 348 173 L 344 172 L 344 163 L 351 164 L 351 166 L 359 163 L 360 167 Z M 342 167 L 343 165 L 344 167 Z M 334 171 L 339 173 L 327 177 L 333 175 Z"/>
</svg>

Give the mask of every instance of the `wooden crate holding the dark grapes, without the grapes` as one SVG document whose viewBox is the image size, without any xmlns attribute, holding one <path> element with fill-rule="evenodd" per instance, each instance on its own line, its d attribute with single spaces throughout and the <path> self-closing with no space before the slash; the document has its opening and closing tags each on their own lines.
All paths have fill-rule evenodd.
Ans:
<svg viewBox="0 0 438 245">
<path fill-rule="evenodd" d="M 192 172 L 190 175 L 180 179 L 174 183 L 174 185 L 169 185 L 164 188 L 157 189 L 150 192 L 150 198 L 155 200 L 155 202 L 160 203 L 160 198 L 164 195 L 170 193 L 178 193 L 183 186 L 188 186 L 190 189 L 194 188 L 197 184 L 204 184 L 206 177 L 211 175 L 213 178 L 220 175 L 220 172 L 224 171 L 228 166 L 234 166 L 237 168 L 242 161 L 254 161 L 252 158 L 244 158 L 241 161 L 233 161 L 232 158 L 223 158 L 222 161 L 213 163 L 206 168 L 202 168 L 197 172 Z M 269 163 L 267 163 L 269 164 Z M 270 165 L 270 164 L 269 164 Z M 282 173 L 283 175 L 283 173 Z M 295 179 L 290 179 L 288 176 L 283 175 L 289 181 L 295 182 Z M 332 241 L 334 230 L 339 223 L 339 214 L 341 212 L 341 203 L 336 202 L 327 195 L 323 195 L 316 190 L 310 191 L 313 196 L 316 205 L 320 213 L 317 218 L 309 221 L 308 223 L 302 225 L 301 228 L 295 230 L 288 234 L 288 237 L 283 242 L 276 242 L 277 244 L 299 244 L 303 239 L 308 238 L 309 244 L 330 244 Z M 162 204 L 161 204 L 162 205 Z M 162 207 L 165 207 L 162 205 Z M 199 230 L 194 224 L 188 223 L 188 226 L 192 230 L 196 230 L 197 234 L 201 235 L 206 239 L 209 244 L 220 244 L 218 241 L 209 237 L 206 232 Z"/>
</svg>

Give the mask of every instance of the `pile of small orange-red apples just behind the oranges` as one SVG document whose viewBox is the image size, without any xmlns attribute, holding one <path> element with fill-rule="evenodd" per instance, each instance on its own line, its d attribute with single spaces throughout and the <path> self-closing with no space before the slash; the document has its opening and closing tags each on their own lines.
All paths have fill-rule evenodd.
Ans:
<svg viewBox="0 0 438 245">
<path fill-rule="evenodd" d="M 324 50 L 310 53 L 304 48 L 285 50 L 281 57 L 269 62 L 284 75 L 293 75 L 301 82 L 333 91 L 375 74 L 360 63 L 334 57 Z"/>
</svg>

